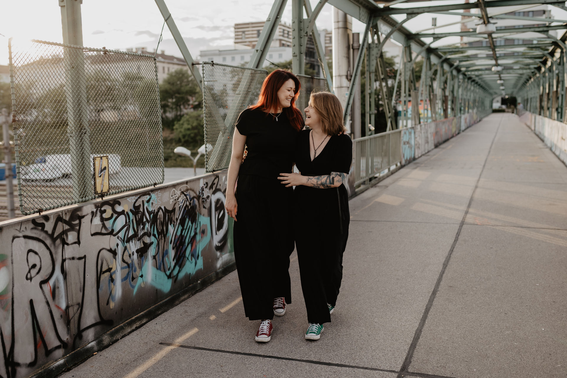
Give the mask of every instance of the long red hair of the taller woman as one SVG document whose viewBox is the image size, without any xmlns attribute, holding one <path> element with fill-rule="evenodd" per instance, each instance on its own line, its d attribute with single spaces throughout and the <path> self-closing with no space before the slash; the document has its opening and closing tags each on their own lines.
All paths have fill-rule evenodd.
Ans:
<svg viewBox="0 0 567 378">
<path fill-rule="evenodd" d="M 293 99 L 291 99 L 291 104 L 289 107 L 282 109 L 285 113 L 287 119 L 289 120 L 291 126 L 298 131 L 303 129 L 303 114 L 295 106 L 295 101 L 299 97 L 299 89 L 301 88 L 301 83 L 299 79 L 290 71 L 286 70 L 275 70 L 264 79 L 262 84 L 262 89 L 260 90 L 260 96 L 258 96 L 258 102 L 256 105 L 252 105 L 250 109 L 260 109 L 264 112 L 269 112 L 270 109 L 277 109 L 280 107 L 280 100 L 278 99 L 278 91 L 285 84 L 287 80 L 293 80 L 295 83 L 295 91 Z"/>
</svg>

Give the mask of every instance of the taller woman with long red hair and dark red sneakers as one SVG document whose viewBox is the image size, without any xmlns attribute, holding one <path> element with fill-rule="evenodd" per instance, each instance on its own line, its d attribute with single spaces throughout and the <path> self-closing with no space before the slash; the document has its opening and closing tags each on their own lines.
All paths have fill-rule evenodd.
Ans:
<svg viewBox="0 0 567 378">
<path fill-rule="evenodd" d="M 258 342 L 270 341 L 274 315 L 284 315 L 291 303 L 293 188 L 281 185 L 278 176 L 291 173 L 295 142 L 304 126 L 295 107 L 300 87 L 289 71 L 269 74 L 256 105 L 240 113 L 232 139 L 227 188 L 235 190 L 226 191 L 226 210 L 235 221 L 234 257 L 244 313 L 261 321 Z"/>
</svg>

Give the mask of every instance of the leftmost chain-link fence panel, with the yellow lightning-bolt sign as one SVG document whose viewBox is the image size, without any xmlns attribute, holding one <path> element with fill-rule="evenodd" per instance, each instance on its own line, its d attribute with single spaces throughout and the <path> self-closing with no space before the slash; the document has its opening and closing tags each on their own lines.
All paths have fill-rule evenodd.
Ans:
<svg viewBox="0 0 567 378">
<path fill-rule="evenodd" d="M 98 197 L 95 176 L 105 195 L 163 182 L 153 56 L 34 40 L 11 46 L 10 64 L 22 213 Z"/>
</svg>

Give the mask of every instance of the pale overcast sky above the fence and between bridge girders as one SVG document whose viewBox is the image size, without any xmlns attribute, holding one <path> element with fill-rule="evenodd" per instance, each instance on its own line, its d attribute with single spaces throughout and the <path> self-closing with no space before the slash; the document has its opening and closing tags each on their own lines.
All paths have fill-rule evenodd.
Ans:
<svg viewBox="0 0 567 378">
<path fill-rule="evenodd" d="M 311 0 L 314 7 L 318 1 Z M 55 0 L 2 0 L 3 17 L 0 23 L 0 64 L 7 64 L 7 37 L 16 39 L 40 39 L 62 42 L 61 11 Z M 428 5 L 447 4 L 447 1 L 431 1 Z M 452 3 L 463 3 L 454 0 Z M 226 46 L 233 43 L 234 24 L 265 20 L 272 7 L 270 0 L 166 0 L 166 4 L 185 39 L 193 58 L 210 46 Z M 422 3 L 423 4 L 423 3 Z M 396 6 L 403 6 L 399 4 Z M 408 5 L 411 6 L 411 5 Z M 553 15 L 565 19 L 567 12 L 553 7 Z M 423 14 L 405 26 L 418 31 L 431 26 L 431 14 Z M 437 24 L 456 22 L 460 16 L 435 15 Z M 403 19 L 404 15 L 395 16 Z M 291 2 L 282 17 L 291 22 Z M 83 0 L 83 43 L 85 46 L 125 50 L 146 47 L 154 50 L 158 43 L 163 18 L 154 0 Z M 319 29 L 332 28 L 332 7 L 325 5 L 317 19 Z M 438 32 L 458 31 L 454 25 L 438 28 Z M 363 32 L 364 24 L 353 20 L 353 31 Z M 458 39 L 443 39 L 437 44 L 448 44 Z M 159 50 L 180 56 L 167 26 Z"/>
</svg>

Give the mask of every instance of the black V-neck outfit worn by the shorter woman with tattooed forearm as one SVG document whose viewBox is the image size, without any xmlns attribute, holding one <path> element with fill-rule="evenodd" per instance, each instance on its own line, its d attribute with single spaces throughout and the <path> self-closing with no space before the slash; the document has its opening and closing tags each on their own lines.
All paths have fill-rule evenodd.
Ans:
<svg viewBox="0 0 567 378">
<path fill-rule="evenodd" d="M 352 141 L 333 135 L 311 161 L 311 130 L 300 131 L 295 164 L 303 176 L 349 173 Z M 344 184 L 319 189 L 298 185 L 294 190 L 295 246 L 303 299 L 310 323 L 331 321 L 327 303 L 335 305 L 342 279 L 342 254 L 349 236 L 349 202 Z"/>
</svg>

